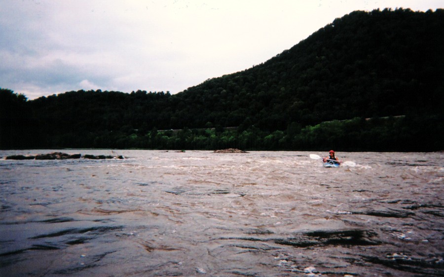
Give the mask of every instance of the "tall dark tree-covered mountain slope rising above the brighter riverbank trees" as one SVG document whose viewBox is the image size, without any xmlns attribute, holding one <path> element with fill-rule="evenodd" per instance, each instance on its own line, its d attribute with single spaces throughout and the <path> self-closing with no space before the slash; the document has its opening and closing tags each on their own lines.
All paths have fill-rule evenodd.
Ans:
<svg viewBox="0 0 444 277">
<path fill-rule="evenodd" d="M 178 98 L 190 103 L 187 113 L 199 107 L 195 126 L 209 118 L 270 131 L 292 122 L 440 112 L 443 23 L 443 10 L 352 12 L 262 65 L 208 80 Z"/>
</svg>

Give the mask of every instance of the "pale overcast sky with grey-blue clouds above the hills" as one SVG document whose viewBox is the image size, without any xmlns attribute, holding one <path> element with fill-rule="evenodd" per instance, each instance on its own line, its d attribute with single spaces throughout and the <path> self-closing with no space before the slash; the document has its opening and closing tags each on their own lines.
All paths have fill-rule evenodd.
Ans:
<svg viewBox="0 0 444 277">
<path fill-rule="evenodd" d="M 0 88 L 175 94 L 249 69 L 354 10 L 442 0 L 0 0 Z"/>
</svg>

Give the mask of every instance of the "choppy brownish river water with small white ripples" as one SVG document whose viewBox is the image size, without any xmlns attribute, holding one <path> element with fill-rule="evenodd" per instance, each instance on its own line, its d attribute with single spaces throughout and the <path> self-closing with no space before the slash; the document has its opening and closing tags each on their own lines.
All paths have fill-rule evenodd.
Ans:
<svg viewBox="0 0 444 277">
<path fill-rule="evenodd" d="M 0 276 L 444 276 L 443 153 L 114 151 L 0 160 Z"/>
</svg>

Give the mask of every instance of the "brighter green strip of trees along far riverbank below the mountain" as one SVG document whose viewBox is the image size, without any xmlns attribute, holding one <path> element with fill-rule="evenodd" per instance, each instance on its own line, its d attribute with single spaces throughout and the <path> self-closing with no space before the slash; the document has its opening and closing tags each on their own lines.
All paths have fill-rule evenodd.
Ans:
<svg viewBox="0 0 444 277">
<path fill-rule="evenodd" d="M 144 148 L 176 150 L 319 150 L 348 151 L 436 151 L 444 149 L 442 139 L 430 134 L 444 134 L 443 118 L 354 118 L 323 122 L 302 129 L 296 125 L 285 131 L 262 131 L 252 127 L 152 130 L 141 135 L 103 133 L 90 141 L 93 147 Z M 426 123 L 426 124 L 424 124 Z M 82 138 L 83 141 L 84 138 Z M 79 143 L 80 141 L 74 142 Z M 418 143 L 421 142 L 421 143 Z M 72 142 L 73 143 L 73 142 Z M 81 143 L 81 142 L 80 142 Z M 80 146 L 80 144 L 79 144 Z"/>
</svg>

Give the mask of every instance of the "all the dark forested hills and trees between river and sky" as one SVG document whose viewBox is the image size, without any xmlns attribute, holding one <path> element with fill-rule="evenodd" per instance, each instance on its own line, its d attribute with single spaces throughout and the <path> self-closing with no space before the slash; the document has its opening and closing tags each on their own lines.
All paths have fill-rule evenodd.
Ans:
<svg viewBox="0 0 444 277">
<path fill-rule="evenodd" d="M 443 26 L 443 9 L 355 11 L 175 95 L 1 90 L 0 148 L 442 150 Z"/>
</svg>

